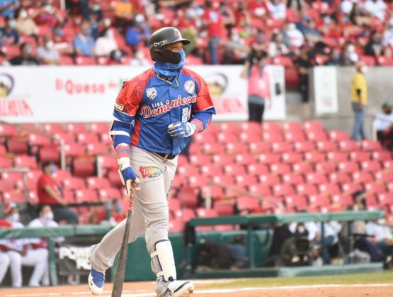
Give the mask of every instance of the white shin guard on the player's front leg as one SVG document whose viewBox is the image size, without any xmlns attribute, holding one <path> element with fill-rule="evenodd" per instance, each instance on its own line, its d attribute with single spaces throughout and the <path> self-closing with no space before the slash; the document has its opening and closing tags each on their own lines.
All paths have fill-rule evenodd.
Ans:
<svg viewBox="0 0 393 297">
<path fill-rule="evenodd" d="M 156 251 L 152 252 L 152 254 L 150 254 L 150 257 L 152 259 L 154 257 L 157 257 L 159 265 L 161 267 L 161 271 L 159 271 L 156 276 L 164 276 L 165 281 L 176 280 L 175 259 L 173 259 L 171 242 L 169 240 L 162 240 L 156 242 L 155 248 Z"/>
</svg>

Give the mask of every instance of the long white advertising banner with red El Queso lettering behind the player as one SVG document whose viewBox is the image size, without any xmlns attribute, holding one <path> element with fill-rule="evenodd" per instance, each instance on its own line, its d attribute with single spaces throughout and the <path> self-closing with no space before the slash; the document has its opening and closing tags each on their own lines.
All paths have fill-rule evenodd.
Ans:
<svg viewBox="0 0 393 297">
<path fill-rule="evenodd" d="M 123 81 L 146 67 L 41 66 L 2 67 L 0 71 L 0 121 L 8 123 L 77 123 L 112 121 L 113 104 Z M 213 121 L 248 118 L 247 81 L 242 65 L 190 67 L 207 82 L 217 116 Z M 285 116 L 283 67 L 269 67 L 273 106 L 266 118 Z M 278 86 L 278 84 L 280 86 Z M 277 92 L 278 89 L 280 91 Z"/>
</svg>

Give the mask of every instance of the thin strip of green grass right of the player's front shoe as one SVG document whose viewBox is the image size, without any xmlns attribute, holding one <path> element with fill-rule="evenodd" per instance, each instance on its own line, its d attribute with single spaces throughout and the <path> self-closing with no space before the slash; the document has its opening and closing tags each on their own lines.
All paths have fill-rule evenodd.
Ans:
<svg viewBox="0 0 393 297">
<path fill-rule="evenodd" d="M 200 285 L 203 288 L 244 288 L 268 286 L 309 286 L 329 284 L 393 284 L 393 271 L 382 271 L 365 274 L 341 274 L 332 276 L 298 276 L 234 279 L 221 284 Z"/>
</svg>

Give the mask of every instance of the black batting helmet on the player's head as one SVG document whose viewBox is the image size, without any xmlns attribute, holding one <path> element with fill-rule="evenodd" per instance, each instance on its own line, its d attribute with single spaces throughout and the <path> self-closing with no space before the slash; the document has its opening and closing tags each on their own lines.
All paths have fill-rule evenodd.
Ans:
<svg viewBox="0 0 393 297">
<path fill-rule="evenodd" d="M 178 41 L 181 41 L 183 45 L 190 43 L 190 40 L 181 36 L 177 28 L 164 27 L 156 30 L 149 39 L 150 57 L 153 61 L 177 64 L 181 60 L 181 55 L 178 52 L 168 50 L 165 45 Z"/>
</svg>

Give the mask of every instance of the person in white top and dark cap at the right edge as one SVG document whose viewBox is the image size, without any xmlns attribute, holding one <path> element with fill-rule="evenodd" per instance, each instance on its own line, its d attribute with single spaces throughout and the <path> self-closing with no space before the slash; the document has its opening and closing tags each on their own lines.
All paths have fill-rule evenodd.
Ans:
<svg viewBox="0 0 393 297">
<path fill-rule="evenodd" d="M 382 112 L 375 116 L 372 123 L 377 132 L 377 140 L 388 150 L 393 150 L 393 112 L 391 103 L 383 103 Z"/>
</svg>

